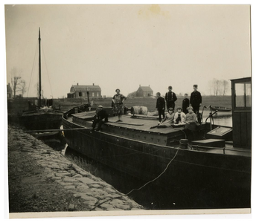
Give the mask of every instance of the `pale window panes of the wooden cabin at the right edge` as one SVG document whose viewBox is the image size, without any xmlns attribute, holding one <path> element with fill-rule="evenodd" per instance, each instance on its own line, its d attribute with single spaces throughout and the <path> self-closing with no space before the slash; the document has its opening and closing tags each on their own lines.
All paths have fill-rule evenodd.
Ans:
<svg viewBox="0 0 256 223">
<path fill-rule="evenodd" d="M 236 83 L 235 89 L 235 103 L 237 108 L 251 107 L 252 91 L 251 83 Z"/>
</svg>

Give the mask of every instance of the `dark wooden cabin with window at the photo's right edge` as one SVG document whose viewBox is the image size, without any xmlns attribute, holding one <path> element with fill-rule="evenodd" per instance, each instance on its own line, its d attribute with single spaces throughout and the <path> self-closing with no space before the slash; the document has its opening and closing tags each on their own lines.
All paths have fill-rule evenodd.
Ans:
<svg viewBox="0 0 256 223">
<path fill-rule="evenodd" d="M 234 147 L 252 146 L 252 77 L 231 80 Z"/>
</svg>

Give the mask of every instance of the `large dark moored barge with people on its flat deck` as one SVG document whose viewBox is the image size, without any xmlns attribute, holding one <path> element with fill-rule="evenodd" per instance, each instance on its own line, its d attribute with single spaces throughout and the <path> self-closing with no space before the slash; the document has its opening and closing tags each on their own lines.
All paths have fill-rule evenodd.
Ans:
<svg viewBox="0 0 256 223">
<path fill-rule="evenodd" d="M 233 112 L 237 111 L 233 103 L 232 107 Z M 234 129 L 202 123 L 196 140 L 183 147 L 181 141 L 188 138 L 184 126 L 150 129 L 158 120 L 142 115 L 126 115 L 123 122 L 118 123 L 112 109 L 106 108 L 106 111 L 109 122 L 99 132 L 92 131 L 95 111 L 66 112 L 63 129 L 68 146 L 121 172 L 144 181 L 153 180 L 160 187 L 208 190 L 223 199 L 232 196 L 237 200 L 223 207 L 250 207 L 252 149 L 248 141 L 242 144 L 244 134 L 239 132 L 240 142 L 237 142 Z M 250 112 L 249 107 L 243 110 L 247 111 Z M 234 120 L 233 126 L 237 128 Z"/>
</svg>

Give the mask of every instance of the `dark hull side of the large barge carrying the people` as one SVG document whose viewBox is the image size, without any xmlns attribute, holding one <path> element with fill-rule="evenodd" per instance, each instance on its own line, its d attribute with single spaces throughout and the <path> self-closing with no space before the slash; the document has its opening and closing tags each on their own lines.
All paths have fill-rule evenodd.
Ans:
<svg viewBox="0 0 256 223">
<path fill-rule="evenodd" d="M 63 127 L 83 128 L 64 118 Z M 175 157 L 154 184 L 211 190 L 222 196 L 232 191 L 243 195 L 243 202 L 237 198 L 235 207 L 250 207 L 251 157 L 178 150 L 88 129 L 65 131 L 65 140 L 77 152 L 144 181 L 156 178 Z"/>
</svg>

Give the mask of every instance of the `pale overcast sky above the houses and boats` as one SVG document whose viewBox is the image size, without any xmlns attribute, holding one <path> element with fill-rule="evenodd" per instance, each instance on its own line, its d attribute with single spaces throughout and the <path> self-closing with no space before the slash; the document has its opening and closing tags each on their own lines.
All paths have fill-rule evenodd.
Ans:
<svg viewBox="0 0 256 223">
<path fill-rule="evenodd" d="M 209 80 L 251 76 L 249 4 L 6 5 L 5 25 L 7 83 L 16 68 L 31 82 L 25 96 L 36 96 L 39 27 L 45 97 L 77 83 L 106 96 L 195 83 L 209 94 Z"/>
</svg>

